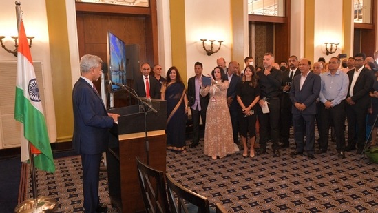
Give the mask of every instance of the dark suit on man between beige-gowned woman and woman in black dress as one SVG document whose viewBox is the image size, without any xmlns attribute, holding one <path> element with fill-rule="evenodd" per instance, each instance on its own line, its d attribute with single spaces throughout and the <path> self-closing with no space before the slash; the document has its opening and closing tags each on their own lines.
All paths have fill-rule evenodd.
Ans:
<svg viewBox="0 0 378 213">
<path fill-rule="evenodd" d="M 225 76 L 224 80 L 227 79 L 227 74 Z M 232 124 L 232 134 L 233 134 L 233 143 L 238 143 L 238 113 L 240 110 L 240 105 L 238 103 L 238 100 L 236 100 L 236 90 L 238 90 L 238 87 L 242 83 L 242 78 L 240 78 L 238 75 L 233 74 L 231 81 L 229 82 L 229 88 L 227 88 L 227 97 L 232 97 L 233 101 L 231 105 L 229 105 L 229 112 L 231 116 L 231 124 Z"/>
</svg>

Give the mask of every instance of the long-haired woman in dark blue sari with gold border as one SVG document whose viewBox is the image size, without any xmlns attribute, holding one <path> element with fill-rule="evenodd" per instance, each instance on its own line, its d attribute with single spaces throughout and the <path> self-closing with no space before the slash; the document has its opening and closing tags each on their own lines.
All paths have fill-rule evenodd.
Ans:
<svg viewBox="0 0 378 213">
<path fill-rule="evenodd" d="M 167 81 L 161 88 L 161 99 L 167 101 L 167 149 L 186 153 L 187 90 L 176 67 L 169 68 L 167 72 Z"/>
</svg>

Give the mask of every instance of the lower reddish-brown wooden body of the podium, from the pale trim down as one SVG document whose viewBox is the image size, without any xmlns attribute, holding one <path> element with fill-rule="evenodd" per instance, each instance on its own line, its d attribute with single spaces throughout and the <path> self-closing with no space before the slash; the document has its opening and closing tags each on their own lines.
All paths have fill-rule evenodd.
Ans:
<svg viewBox="0 0 378 213">
<path fill-rule="evenodd" d="M 144 132 L 143 132 L 144 134 Z M 149 132 L 149 165 L 157 170 L 166 171 L 165 131 Z M 118 151 L 119 159 L 116 159 Z M 112 153 L 113 152 L 113 153 Z M 109 176 L 109 196 L 112 204 L 120 212 L 144 212 L 145 206 L 140 194 L 136 156 L 147 164 L 145 138 L 119 140 L 119 149 L 109 149 L 107 168 Z"/>
</svg>

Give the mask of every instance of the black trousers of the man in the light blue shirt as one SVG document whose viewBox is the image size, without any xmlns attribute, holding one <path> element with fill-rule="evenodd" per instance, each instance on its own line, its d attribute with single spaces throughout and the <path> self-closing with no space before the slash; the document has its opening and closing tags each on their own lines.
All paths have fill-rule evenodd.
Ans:
<svg viewBox="0 0 378 213">
<path fill-rule="evenodd" d="M 345 150 L 345 103 L 342 101 L 339 105 L 333 108 L 326 109 L 324 104 L 319 108 L 320 125 L 318 125 L 320 138 L 320 149 L 328 149 L 328 138 L 330 123 L 333 123 L 335 128 L 335 139 L 337 152 Z"/>
</svg>

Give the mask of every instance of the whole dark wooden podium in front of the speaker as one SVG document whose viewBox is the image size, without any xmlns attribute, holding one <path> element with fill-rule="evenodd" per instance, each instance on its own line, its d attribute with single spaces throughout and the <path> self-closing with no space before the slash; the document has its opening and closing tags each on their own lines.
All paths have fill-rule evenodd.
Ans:
<svg viewBox="0 0 378 213">
<path fill-rule="evenodd" d="M 165 172 L 167 103 L 159 99 L 151 99 L 151 103 L 158 113 L 147 112 L 149 165 Z M 115 108 L 108 112 L 120 114 L 118 124 L 110 130 L 106 155 L 110 201 L 119 212 L 145 212 L 136 168 L 136 156 L 147 163 L 145 112 L 140 105 Z"/>
</svg>

